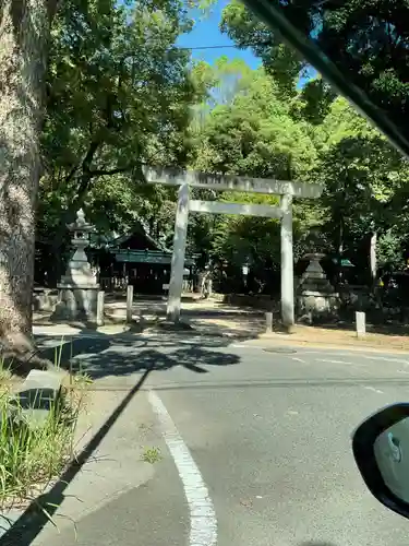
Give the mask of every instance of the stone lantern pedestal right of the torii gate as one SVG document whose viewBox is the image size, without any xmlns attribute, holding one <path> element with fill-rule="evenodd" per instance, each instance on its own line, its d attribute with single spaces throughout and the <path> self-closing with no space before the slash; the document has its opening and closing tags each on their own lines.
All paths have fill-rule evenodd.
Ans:
<svg viewBox="0 0 409 546">
<path fill-rule="evenodd" d="M 339 294 L 327 280 L 320 260 L 325 254 L 306 254 L 310 264 L 303 273 L 297 290 L 297 308 L 299 317 L 308 317 L 310 321 L 317 317 L 334 316 L 339 308 Z"/>
</svg>

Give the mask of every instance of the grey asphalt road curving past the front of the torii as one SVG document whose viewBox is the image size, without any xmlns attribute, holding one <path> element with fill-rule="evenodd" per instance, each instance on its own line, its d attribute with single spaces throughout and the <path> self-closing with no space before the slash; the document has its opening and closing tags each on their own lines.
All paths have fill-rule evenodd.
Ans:
<svg viewBox="0 0 409 546">
<path fill-rule="evenodd" d="M 83 359 L 107 388 L 156 368 L 137 396 L 154 403 L 165 456 L 143 487 L 81 519 L 77 542 L 67 529 L 53 546 L 407 545 L 409 521 L 365 489 L 350 435 L 377 407 L 409 400 L 409 355 L 178 340 L 118 343 Z M 204 538 L 194 543 L 197 498 Z"/>
</svg>

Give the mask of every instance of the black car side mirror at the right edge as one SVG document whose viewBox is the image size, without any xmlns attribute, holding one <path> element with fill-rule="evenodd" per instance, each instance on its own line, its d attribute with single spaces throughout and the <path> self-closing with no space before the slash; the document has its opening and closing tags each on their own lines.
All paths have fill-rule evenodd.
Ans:
<svg viewBox="0 0 409 546">
<path fill-rule="evenodd" d="M 372 495 L 409 519 L 409 404 L 387 406 L 352 435 L 359 472 Z"/>
</svg>

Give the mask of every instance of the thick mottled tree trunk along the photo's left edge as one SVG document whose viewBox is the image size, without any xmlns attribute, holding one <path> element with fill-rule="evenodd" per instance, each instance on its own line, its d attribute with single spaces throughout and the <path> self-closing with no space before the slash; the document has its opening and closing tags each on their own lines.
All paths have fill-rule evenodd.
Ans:
<svg viewBox="0 0 409 546">
<path fill-rule="evenodd" d="M 0 340 L 31 345 L 35 205 L 55 1 L 0 2 Z"/>
</svg>

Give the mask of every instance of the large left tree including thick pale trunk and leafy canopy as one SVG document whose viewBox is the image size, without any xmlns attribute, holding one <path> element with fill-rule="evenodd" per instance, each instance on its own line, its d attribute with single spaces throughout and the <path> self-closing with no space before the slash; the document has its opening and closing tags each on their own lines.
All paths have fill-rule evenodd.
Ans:
<svg viewBox="0 0 409 546">
<path fill-rule="evenodd" d="M 195 95 L 189 54 L 175 46 L 191 26 L 182 0 L 67 0 L 56 11 L 0 2 L 0 337 L 20 345 L 32 329 L 35 227 L 57 252 L 77 207 L 103 209 L 109 179 L 117 199 L 142 181 L 141 163 L 183 164 Z"/>
</svg>

